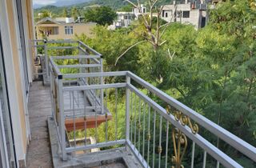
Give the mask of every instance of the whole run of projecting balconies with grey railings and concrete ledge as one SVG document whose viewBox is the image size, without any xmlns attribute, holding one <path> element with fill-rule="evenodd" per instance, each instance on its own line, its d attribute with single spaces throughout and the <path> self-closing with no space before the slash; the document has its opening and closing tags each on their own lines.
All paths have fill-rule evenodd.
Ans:
<svg viewBox="0 0 256 168">
<path fill-rule="evenodd" d="M 47 46 L 54 43 L 70 46 Z M 55 167 L 242 167 L 240 158 L 255 165 L 254 146 L 130 71 L 103 72 L 102 55 L 82 42 L 42 46 L 50 101 L 38 109 L 52 107 Z"/>
</svg>

